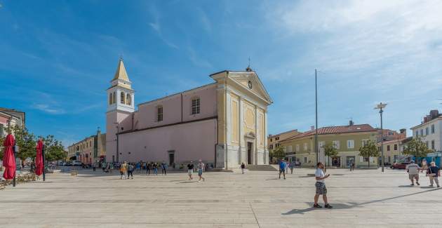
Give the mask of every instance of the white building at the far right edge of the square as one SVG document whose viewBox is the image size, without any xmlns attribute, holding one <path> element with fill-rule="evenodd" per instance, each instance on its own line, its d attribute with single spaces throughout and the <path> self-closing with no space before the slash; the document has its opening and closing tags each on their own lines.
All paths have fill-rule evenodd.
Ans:
<svg viewBox="0 0 442 228">
<path fill-rule="evenodd" d="M 410 129 L 413 138 L 420 138 L 434 152 L 442 152 L 442 114 L 438 110 L 431 110 L 419 125 Z"/>
</svg>

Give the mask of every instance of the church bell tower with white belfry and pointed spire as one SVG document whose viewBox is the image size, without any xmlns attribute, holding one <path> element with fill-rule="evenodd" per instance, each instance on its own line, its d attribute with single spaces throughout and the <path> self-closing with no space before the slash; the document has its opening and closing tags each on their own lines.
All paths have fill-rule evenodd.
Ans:
<svg viewBox="0 0 442 228">
<path fill-rule="evenodd" d="M 106 161 L 119 161 L 118 133 L 124 129 L 124 119 L 135 112 L 135 91 L 132 89 L 123 59 L 120 58 L 114 79 L 107 91 L 106 112 Z"/>
</svg>

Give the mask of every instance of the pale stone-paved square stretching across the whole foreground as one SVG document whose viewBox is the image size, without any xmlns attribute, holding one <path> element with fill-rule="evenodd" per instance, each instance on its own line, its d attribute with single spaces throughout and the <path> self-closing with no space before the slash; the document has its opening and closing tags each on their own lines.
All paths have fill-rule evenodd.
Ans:
<svg viewBox="0 0 442 228">
<path fill-rule="evenodd" d="M 330 210 L 312 209 L 313 172 L 55 173 L 1 191 L 0 227 L 441 227 L 442 191 L 424 175 L 409 187 L 403 170 L 329 169 Z"/>
</svg>

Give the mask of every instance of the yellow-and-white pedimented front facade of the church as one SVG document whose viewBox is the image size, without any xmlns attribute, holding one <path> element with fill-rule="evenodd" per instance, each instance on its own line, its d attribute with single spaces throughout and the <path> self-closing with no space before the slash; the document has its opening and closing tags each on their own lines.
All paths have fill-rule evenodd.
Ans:
<svg viewBox="0 0 442 228">
<path fill-rule="evenodd" d="M 210 76 L 217 81 L 217 167 L 268 164 L 267 106 L 272 99 L 257 74 L 248 68 Z"/>
</svg>

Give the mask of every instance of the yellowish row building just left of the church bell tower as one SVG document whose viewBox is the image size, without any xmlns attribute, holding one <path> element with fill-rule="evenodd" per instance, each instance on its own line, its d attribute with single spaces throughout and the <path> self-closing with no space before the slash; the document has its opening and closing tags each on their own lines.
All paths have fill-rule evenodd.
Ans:
<svg viewBox="0 0 442 228">
<path fill-rule="evenodd" d="M 85 164 L 102 161 L 106 155 L 106 133 L 102 134 L 100 128 L 96 135 L 91 135 L 84 140 L 67 147 L 67 160 L 76 157 L 76 160 Z"/>
</svg>

